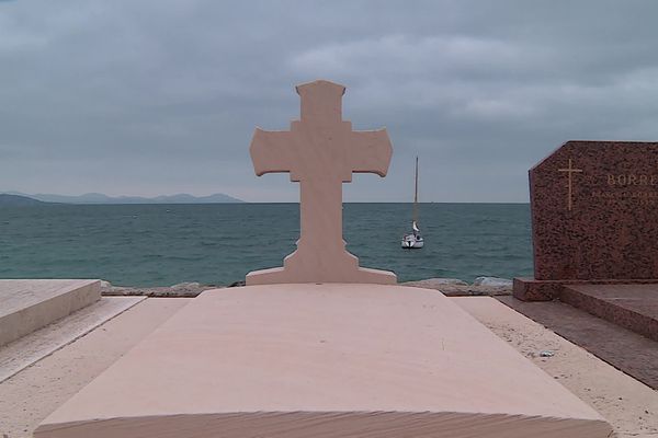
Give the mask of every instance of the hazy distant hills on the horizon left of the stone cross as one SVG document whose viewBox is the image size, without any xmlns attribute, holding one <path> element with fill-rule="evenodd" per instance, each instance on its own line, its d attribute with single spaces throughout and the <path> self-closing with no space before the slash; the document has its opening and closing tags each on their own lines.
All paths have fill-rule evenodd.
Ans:
<svg viewBox="0 0 658 438">
<path fill-rule="evenodd" d="M 11 195 L 31 197 L 44 203 L 63 204 L 223 204 L 223 203 L 243 203 L 240 199 L 217 193 L 209 196 L 192 196 L 188 194 L 162 195 L 155 198 L 140 196 L 107 196 L 102 193 L 86 193 L 84 195 L 67 196 L 52 194 L 25 195 L 19 192 L 9 192 Z"/>
</svg>

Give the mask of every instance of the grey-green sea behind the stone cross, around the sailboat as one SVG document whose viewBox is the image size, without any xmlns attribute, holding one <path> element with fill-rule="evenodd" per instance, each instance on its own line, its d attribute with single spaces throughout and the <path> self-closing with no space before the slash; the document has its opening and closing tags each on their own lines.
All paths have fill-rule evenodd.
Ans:
<svg viewBox="0 0 658 438">
<path fill-rule="evenodd" d="M 532 275 L 527 204 L 420 204 L 421 250 L 404 250 L 410 204 L 344 204 L 347 249 L 399 281 Z M 0 207 L 0 278 L 101 278 L 117 286 L 230 285 L 281 266 L 298 204 Z"/>
</svg>

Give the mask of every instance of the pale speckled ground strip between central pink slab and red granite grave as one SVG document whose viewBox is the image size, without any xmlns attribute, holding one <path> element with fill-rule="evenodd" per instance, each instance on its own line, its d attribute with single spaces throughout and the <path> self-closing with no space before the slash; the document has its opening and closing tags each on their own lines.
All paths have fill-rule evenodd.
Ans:
<svg viewBox="0 0 658 438">
<path fill-rule="evenodd" d="M 658 436 L 658 392 L 492 298 L 452 299 L 594 407 L 616 437 Z"/>
</svg>

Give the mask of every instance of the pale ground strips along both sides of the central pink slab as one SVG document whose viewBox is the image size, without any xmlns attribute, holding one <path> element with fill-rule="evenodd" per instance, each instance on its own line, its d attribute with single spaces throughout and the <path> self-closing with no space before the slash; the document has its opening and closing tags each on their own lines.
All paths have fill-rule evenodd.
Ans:
<svg viewBox="0 0 658 438">
<path fill-rule="evenodd" d="M 465 297 L 453 300 L 597 408 L 613 425 L 616 437 L 658 437 L 656 391 L 494 298 Z M 0 436 L 30 437 L 43 418 L 186 302 L 189 299 L 184 298 L 149 298 L 141 301 L 0 383 Z M 554 318 L 557 316 L 554 314 Z M 542 357 L 542 351 L 551 351 L 553 356 Z M 629 361 L 633 361 L 633 353 L 627 354 L 631 355 Z"/>
</svg>

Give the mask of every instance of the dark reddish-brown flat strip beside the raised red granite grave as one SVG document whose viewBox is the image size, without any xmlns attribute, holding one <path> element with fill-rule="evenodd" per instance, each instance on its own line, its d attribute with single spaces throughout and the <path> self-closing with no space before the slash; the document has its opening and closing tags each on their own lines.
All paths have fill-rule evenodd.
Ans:
<svg viewBox="0 0 658 438">
<path fill-rule="evenodd" d="M 497 299 L 658 390 L 658 342 L 559 301 Z"/>
</svg>

